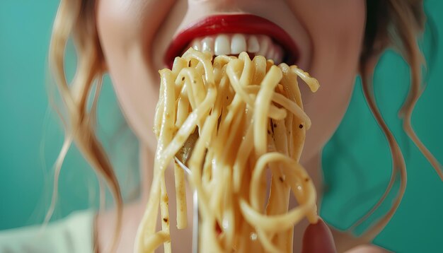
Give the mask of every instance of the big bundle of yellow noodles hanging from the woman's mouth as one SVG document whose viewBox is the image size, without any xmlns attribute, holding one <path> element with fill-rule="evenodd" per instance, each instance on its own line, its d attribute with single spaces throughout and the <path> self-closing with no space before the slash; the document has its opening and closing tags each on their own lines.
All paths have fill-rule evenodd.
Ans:
<svg viewBox="0 0 443 253">
<path fill-rule="evenodd" d="M 313 92 L 316 79 L 297 66 L 251 60 L 246 52 L 212 59 L 192 48 L 159 73 L 154 180 L 136 252 L 161 244 L 171 252 L 164 172 L 195 135 L 188 180 L 199 196 L 200 252 L 292 252 L 294 225 L 318 217 L 315 188 L 298 163 L 311 122 L 297 76 Z M 187 225 L 185 174 L 177 165 L 175 172 L 180 229 Z M 298 205 L 288 211 L 291 192 Z"/>
</svg>

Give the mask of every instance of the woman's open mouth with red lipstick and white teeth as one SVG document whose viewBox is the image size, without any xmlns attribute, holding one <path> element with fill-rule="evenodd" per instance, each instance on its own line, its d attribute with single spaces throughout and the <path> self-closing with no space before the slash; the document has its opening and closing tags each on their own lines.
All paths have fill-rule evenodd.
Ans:
<svg viewBox="0 0 443 253">
<path fill-rule="evenodd" d="M 190 25 L 169 45 L 164 61 L 172 67 L 174 58 L 189 47 L 213 55 L 237 55 L 248 52 L 263 55 L 275 64 L 296 64 L 299 49 L 280 26 L 250 14 L 209 16 Z"/>
</svg>

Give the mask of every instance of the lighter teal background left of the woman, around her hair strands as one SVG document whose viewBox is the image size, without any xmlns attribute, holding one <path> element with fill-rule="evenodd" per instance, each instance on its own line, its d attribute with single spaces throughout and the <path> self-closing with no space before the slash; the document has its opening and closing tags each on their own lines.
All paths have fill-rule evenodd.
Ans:
<svg viewBox="0 0 443 253">
<path fill-rule="evenodd" d="M 0 230 L 40 224 L 50 206 L 53 165 L 64 141 L 63 126 L 47 95 L 52 80 L 47 50 L 58 3 L 0 1 Z M 76 66 L 74 52 L 69 45 L 68 78 Z M 123 195 L 137 196 L 137 140 L 125 124 L 108 76 L 98 102 L 98 135 L 116 167 Z M 98 190 L 95 174 L 73 145 L 59 177 L 52 220 L 98 208 Z"/>
</svg>

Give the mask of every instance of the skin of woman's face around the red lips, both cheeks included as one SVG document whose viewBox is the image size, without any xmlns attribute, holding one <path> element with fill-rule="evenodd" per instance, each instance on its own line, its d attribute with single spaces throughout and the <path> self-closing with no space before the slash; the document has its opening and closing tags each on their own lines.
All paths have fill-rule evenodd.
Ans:
<svg viewBox="0 0 443 253">
<path fill-rule="evenodd" d="M 323 148 L 347 109 L 364 36 L 364 0 L 97 1 L 98 35 L 117 98 L 130 126 L 149 146 L 155 143 L 151 129 L 159 95 L 158 70 L 166 67 L 163 58 L 168 46 L 185 28 L 222 13 L 253 14 L 280 26 L 299 49 L 297 65 L 320 82 L 321 88 L 313 95 L 301 86 L 312 120 L 305 159 Z M 240 41 L 244 37 L 247 44 L 254 30 L 248 33 L 252 34 L 239 36 Z M 212 52 L 226 53 L 232 46 L 230 36 L 228 42 L 217 42 L 217 34 L 204 41 L 205 37 L 197 38 L 197 44 L 205 44 Z M 266 37 L 257 38 L 263 49 Z"/>
</svg>

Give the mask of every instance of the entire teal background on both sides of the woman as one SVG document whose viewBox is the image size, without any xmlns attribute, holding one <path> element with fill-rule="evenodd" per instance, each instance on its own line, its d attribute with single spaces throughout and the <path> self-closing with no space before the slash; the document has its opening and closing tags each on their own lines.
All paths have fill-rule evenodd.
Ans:
<svg viewBox="0 0 443 253">
<path fill-rule="evenodd" d="M 42 223 L 50 203 L 53 168 L 63 142 L 62 125 L 47 102 L 47 47 L 56 0 L 0 1 L 0 230 Z M 443 2 L 425 1 L 432 25 L 421 42 L 429 62 L 426 90 L 413 126 L 443 161 Z M 436 43 L 435 45 L 432 45 Z M 73 51 L 67 66 L 75 66 Z M 381 58 L 376 100 L 408 165 L 408 188 L 396 215 L 375 242 L 396 252 L 442 252 L 443 183 L 401 129 L 398 109 L 408 90 L 407 64 L 395 52 Z M 113 157 L 124 194 L 137 190 L 137 141 L 125 125 L 108 78 L 98 112 L 99 135 Z M 124 150 L 113 149 L 125 146 Z M 113 155 L 118 152 L 118 155 Z M 117 159 L 118 158 L 118 159 Z M 322 216 L 348 228 L 376 202 L 391 173 L 389 147 L 369 112 L 357 80 L 349 110 L 323 153 L 326 193 Z M 129 187 L 130 186 L 130 187 Z M 98 182 L 75 147 L 63 165 L 52 220 L 98 205 Z M 388 203 L 389 204 L 389 203 Z M 386 211 L 388 205 L 381 207 Z"/>
</svg>

